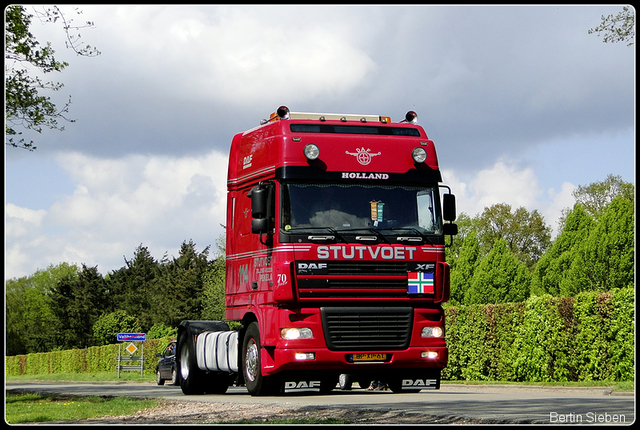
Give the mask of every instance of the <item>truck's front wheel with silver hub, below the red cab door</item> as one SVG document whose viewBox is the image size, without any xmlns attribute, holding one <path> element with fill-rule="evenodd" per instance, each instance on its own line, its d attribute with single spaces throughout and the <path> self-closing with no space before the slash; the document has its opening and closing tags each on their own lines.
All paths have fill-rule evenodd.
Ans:
<svg viewBox="0 0 640 430">
<path fill-rule="evenodd" d="M 258 323 L 253 322 L 242 340 L 242 371 L 247 391 L 252 396 L 278 394 L 281 392 L 280 378 L 262 375 L 261 348 L 260 329 Z"/>
</svg>

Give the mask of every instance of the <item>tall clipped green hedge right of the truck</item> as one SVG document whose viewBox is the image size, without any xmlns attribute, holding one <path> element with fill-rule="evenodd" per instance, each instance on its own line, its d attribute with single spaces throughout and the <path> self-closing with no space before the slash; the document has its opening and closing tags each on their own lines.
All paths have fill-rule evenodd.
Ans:
<svg viewBox="0 0 640 430">
<path fill-rule="evenodd" d="M 446 309 L 448 380 L 632 381 L 634 289 Z"/>
</svg>

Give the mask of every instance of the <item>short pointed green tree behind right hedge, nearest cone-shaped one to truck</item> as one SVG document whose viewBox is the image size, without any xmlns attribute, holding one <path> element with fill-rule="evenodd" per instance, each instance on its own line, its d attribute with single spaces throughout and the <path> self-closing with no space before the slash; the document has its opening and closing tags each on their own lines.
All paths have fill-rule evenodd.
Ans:
<svg viewBox="0 0 640 430">
<path fill-rule="evenodd" d="M 475 270 L 464 304 L 522 302 L 529 297 L 531 275 L 524 263 L 498 239 Z"/>
</svg>

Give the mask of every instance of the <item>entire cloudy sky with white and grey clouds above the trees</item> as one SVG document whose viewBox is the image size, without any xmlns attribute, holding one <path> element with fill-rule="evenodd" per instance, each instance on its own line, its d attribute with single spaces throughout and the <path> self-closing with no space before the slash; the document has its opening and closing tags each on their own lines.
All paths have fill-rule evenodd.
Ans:
<svg viewBox="0 0 640 430">
<path fill-rule="evenodd" d="M 235 133 L 280 105 L 399 121 L 415 110 L 458 211 L 537 209 L 551 227 L 578 185 L 635 183 L 635 45 L 588 30 L 621 6 L 79 6 L 65 131 L 5 147 L 5 279 L 61 262 L 124 266 L 212 245 Z M 29 11 L 33 13 L 32 8 Z"/>
</svg>

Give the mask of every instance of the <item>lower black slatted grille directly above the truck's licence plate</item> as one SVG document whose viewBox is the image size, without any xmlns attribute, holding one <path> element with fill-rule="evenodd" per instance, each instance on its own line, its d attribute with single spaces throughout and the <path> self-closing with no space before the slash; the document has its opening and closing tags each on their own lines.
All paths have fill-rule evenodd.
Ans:
<svg viewBox="0 0 640 430">
<path fill-rule="evenodd" d="M 412 308 L 322 307 L 320 311 L 329 350 L 382 351 L 409 347 Z"/>
</svg>

